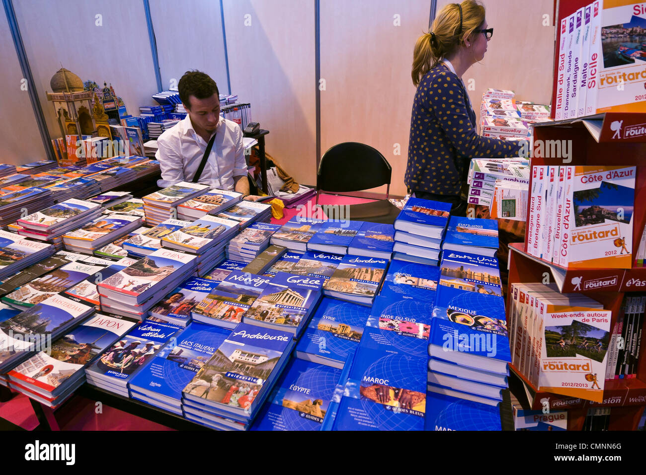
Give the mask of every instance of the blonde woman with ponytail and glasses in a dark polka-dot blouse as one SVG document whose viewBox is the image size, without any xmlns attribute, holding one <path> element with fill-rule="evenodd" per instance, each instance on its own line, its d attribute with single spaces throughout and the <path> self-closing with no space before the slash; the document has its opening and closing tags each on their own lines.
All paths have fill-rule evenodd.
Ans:
<svg viewBox="0 0 646 475">
<path fill-rule="evenodd" d="M 474 0 L 450 3 L 431 31 L 415 43 L 412 78 L 417 87 L 404 183 L 417 198 L 451 203 L 464 216 L 466 174 L 471 158 L 518 156 L 520 145 L 483 138 L 462 80 L 485 57 L 494 28 L 485 7 Z M 461 193 L 462 192 L 462 193 Z"/>
</svg>

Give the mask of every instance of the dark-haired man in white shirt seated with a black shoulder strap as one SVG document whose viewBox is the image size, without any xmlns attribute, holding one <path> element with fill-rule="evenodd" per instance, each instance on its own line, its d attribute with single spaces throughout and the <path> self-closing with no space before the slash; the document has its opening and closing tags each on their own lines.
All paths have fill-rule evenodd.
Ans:
<svg viewBox="0 0 646 475">
<path fill-rule="evenodd" d="M 220 92 L 215 81 L 200 71 L 187 71 L 178 83 L 180 100 L 187 116 L 157 139 L 155 158 L 160 162 L 160 187 L 192 182 L 202 162 L 207 144 L 215 140 L 198 183 L 249 195 L 247 162 L 242 130 L 234 121 L 220 117 Z"/>
</svg>

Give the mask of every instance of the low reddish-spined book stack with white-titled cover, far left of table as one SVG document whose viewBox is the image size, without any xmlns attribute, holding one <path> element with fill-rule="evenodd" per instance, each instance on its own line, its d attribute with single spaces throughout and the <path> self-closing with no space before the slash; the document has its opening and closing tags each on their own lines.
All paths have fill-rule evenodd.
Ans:
<svg viewBox="0 0 646 475">
<path fill-rule="evenodd" d="M 20 218 L 16 223 L 23 229 L 19 230 L 18 234 L 55 243 L 57 238 L 67 231 L 78 229 L 94 220 L 101 215 L 101 211 L 101 205 L 98 203 L 72 198 Z"/>
</svg>

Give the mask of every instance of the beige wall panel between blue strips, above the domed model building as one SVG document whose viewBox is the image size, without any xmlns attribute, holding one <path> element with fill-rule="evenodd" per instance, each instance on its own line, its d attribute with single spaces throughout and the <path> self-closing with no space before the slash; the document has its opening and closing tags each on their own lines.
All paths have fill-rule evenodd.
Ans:
<svg viewBox="0 0 646 475">
<path fill-rule="evenodd" d="M 14 9 L 52 137 L 61 132 L 45 91 L 61 64 L 83 81 L 112 83 L 130 114 L 153 103 L 157 83 L 143 2 L 25 0 L 14 1 Z"/>
</svg>

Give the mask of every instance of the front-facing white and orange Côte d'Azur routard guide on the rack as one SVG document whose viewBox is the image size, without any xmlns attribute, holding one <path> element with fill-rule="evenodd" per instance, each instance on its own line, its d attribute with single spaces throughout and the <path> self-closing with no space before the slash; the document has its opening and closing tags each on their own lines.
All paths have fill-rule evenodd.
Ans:
<svg viewBox="0 0 646 475">
<path fill-rule="evenodd" d="M 561 266 L 632 266 L 635 177 L 636 167 L 574 167 L 572 187 L 563 196 Z"/>
</svg>

